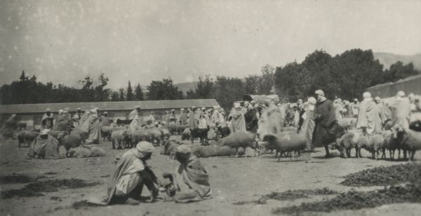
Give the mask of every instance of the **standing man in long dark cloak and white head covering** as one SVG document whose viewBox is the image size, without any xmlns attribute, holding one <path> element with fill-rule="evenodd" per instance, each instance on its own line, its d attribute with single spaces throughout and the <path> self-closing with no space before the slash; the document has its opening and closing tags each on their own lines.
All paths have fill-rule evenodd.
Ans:
<svg viewBox="0 0 421 216">
<path fill-rule="evenodd" d="M 327 100 L 323 90 L 316 90 L 317 103 L 314 107 L 314 121 L 316 126 L 313 134 L 313 146 L 325 147 L 326 157 L 330 157 L 328 144 L 335 142 L 338 130 L 335 108 Z"/>
</svg>

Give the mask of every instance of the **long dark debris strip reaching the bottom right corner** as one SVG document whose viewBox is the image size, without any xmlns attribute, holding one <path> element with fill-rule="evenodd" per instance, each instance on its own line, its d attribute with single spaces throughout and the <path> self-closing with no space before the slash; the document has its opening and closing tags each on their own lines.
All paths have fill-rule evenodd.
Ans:
<svg viewBox="0 0 421 216">
<path fill-rule="evenodd" d="M 348 191 L 328 200 L 301 203 L 284 208 L 275 208 L 274 214 L 301 215 L 302 212 L 332 212 L 374 208 L 390 203 L 421 203 L 421 187 L 409 184 L 389 187 L 377 191 Z"/>
</svg>

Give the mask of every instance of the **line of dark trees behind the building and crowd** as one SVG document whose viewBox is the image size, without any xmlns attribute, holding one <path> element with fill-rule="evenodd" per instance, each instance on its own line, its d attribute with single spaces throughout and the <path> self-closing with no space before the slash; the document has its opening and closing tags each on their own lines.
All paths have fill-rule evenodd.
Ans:
<svg viewBox="0 0 421 216">
<path fill-rule="evenodd" d="M 126 88 L 107 88 L 108 77 L 98 79 L 86 76 L 79 81 L 81 87 L 69 87 L 51 82 L 36 81 L 22 72 L 18 81 L 0 88 L 1 104 L 25 104 L 46 102 L 100 102 L 131 100 L 179 100 L 215 98 L 221 107 L 229 109 L 232 102 L 241 100 L 243 94 L 269 95 L 276 93 L 283 102 L 295 102 L 323 89 L 330 98 L 335 96 L 351 100 L 361 97 L 363 91 L 380 83 L 398 81 L 407 76 L 420 74 L 413 64 L 396 62 L 388 69 L 374 59 L 372 50 L 353 49 L 331 56 L 323 50 L 315 50 L 302 62 L 290 62 L 283 67 L 265 65 L 260 74 L 243 79 L 229 76 L 206 75 L 199 77 L 196 87 L 182 93 L 174 86 L 171 77 L 151 81 L 146 93 L 138 83 L 133 87 L 128 81 Z"/>
</svg>

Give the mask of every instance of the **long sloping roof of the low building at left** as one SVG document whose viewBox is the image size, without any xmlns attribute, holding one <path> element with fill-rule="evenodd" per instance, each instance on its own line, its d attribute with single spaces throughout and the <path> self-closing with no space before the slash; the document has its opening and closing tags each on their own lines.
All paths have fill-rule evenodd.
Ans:
<svg viewBox="0 0 421 216">
<path fill-rule="evenodd" d="M 71 102 L 71 103 L 45 103 L 45 104 L 8 104 L 0 105 L 1 114 L 44 113 L 46 108 L 51 112 L 69 108 L 70 112 L 78 107 L 82 110 L 100 108 L 100 111 L 133 110 L 135 106 L 140 109 L 180 109 L 187 107 L 213 107 L 218 106 L 215 99 L 196 100 L 143 100 L 143 101 L 119 101 L 119 102 Z"/>
</svg>

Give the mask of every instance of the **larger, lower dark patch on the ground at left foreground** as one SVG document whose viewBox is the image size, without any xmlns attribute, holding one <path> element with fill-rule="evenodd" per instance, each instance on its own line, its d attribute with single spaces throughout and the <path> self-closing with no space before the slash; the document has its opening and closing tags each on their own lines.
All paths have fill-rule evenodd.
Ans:
<svg viewBox="0 0 421 216">
<path fill-rule="evenodd" d="M 41 192 L 54 192 L 59 188 L 76 189 L 81 187 L 91 187 L 100 184 L 99 182 L 86 182 L 79 179 L 64 179 L 64 180 L 46 180 L 41 182 L 32 182 L 22 189 L 11 189 L 1 192 L 1 198 L 31 197 L 44 196 Z"/>
</svg>

